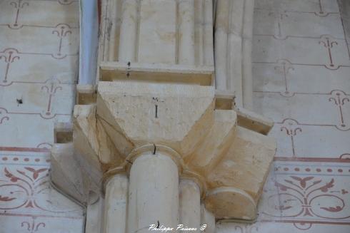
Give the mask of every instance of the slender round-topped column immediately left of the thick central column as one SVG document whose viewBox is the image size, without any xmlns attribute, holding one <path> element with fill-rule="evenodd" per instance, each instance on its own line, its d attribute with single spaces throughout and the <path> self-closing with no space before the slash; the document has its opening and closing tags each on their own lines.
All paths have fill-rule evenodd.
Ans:
<svg viewBox="0 0 350 233">
<path fill-rule="evenodd" d="M 106 184 L 104 233 L 126 233 L 126 207 L 129 180 L 126 175 L 114 175 Z"/>
</svg>

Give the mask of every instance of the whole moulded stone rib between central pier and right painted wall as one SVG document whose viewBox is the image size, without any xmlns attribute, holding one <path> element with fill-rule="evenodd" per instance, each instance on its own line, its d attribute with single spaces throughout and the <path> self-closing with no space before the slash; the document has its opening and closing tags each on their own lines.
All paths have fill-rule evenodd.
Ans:
<svg viewBox="0 0 350 233">
<path fill-rule="evenodd" d="M 237 107 L 252 109 L 254 1 L 217 0 L 215 10 L 216 88 L 233 94 Z"/>
</svg>

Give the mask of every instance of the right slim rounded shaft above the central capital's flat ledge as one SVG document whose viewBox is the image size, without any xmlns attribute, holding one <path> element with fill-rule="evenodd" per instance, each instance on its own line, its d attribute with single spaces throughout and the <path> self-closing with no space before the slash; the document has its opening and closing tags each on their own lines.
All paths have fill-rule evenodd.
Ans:
<svg viewBox="0 0 350 233">
<path fill-rule="evenodd" d="M 194 0 L 179 0 L 179 64 L 194 65 Z"/>
</svg>

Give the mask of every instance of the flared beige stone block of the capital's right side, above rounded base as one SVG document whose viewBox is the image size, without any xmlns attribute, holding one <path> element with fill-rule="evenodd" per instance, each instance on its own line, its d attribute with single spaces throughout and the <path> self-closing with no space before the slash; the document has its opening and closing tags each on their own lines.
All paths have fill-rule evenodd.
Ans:
<svg viewBox="0 0 350 233">
<path fill-rule="evenodd" d="M 231 147 L 208 175 L 209 187 L 236 187 L 247 192 L 257 202 L 275 150 L 273 139 L 237 127 Z"/>
</svg>

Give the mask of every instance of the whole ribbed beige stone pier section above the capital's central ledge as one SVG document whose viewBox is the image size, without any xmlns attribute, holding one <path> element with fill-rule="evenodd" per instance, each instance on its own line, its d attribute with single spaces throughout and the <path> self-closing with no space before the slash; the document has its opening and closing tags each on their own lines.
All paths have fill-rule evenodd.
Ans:
<svg viewBox="0 0 350 233">
<path fill-rule="evenodd" d="M 214 66 L 211 0 L 105 0 L 99 61 Z"/>
</svg>

